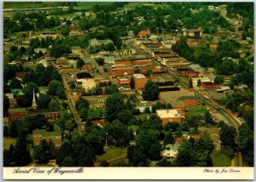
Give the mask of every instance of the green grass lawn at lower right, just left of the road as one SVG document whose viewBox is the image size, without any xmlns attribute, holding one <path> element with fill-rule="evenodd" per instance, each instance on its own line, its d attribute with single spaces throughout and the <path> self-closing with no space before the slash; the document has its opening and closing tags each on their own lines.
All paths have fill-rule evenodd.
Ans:
<svg viewBox="0 0 256 182">
<path fill-rule="evenodd" d="M 229 157 L 218 153 L 217 151 L 212 152 L 211 158 L 213 167 L 229 167 L 231 165 Z"/>
</svg>

